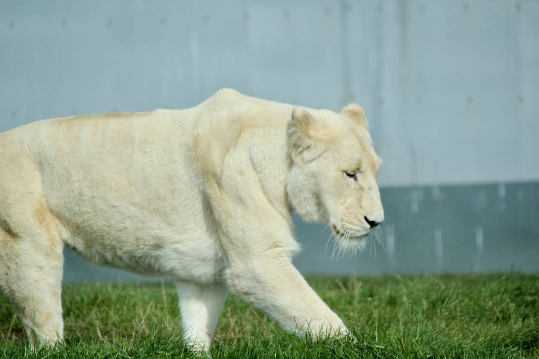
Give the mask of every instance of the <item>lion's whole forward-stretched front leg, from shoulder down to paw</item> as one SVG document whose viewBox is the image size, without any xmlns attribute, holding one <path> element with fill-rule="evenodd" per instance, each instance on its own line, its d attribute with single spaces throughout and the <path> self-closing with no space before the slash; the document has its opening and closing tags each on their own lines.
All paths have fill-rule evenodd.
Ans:
<svg viewBox="0 0 539 359">
<path fill-rule="evenodd" d="M 299 335 L 347 333 L 292 265 L 299 249 L 292 214 L 286 203 L 270 201 L 251 163 L 250 152 L 235 147 L 219 172 L 222 177 L 206 173 L 206 195 L 227 259 L 227 286 Z"/>
</svg>

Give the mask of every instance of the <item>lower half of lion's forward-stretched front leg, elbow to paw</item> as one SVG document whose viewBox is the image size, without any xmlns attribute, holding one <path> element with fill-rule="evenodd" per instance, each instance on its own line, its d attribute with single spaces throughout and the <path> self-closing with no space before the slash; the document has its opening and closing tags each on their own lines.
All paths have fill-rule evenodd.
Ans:
<svg viewBox="0 0 539 359">
<path fill-rule="evenodd" d="M 342 335 L 342 320 L 320 299 L 294 268 L 278 253 L 232 264 L 227 284 L 242 299 L 265 311 L 279 325 L 303 336 Z"/>
</svg>

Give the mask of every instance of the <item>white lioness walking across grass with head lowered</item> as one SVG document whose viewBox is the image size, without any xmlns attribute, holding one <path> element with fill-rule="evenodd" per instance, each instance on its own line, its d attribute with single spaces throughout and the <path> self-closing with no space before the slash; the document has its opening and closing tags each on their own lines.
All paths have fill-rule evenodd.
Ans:
<svg viewBox="0 0 539 359">
<path fill-rule="evenodd" d="M 223 89 L 197 107 L 38 121 L 0 135 L 0 287 L 33 345 L 63 337 L 64 244 L 174 279 L 208 349 L 227 291 L 300 335 L 347 333 L 291 263 L 292 210 L 361 247 L 384 219 L 363 109 Z"/>
</svg>

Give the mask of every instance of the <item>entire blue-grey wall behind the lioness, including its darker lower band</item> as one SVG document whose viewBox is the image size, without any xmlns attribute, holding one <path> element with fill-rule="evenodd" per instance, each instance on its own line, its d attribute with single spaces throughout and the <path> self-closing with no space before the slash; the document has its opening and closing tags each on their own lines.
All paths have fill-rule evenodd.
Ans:
<svg viewBox="0 0 539 359">
<path fill-rule="evenodd" d="M 358 102 L 384 159 L 385 250 L 335 261 L 328 231 L 296 219 L 303 272 L 538 271 L 537 18 L 536 0 L 0 1 L 0 131 L 222 87 Z M 67 280 L 137 278 L 66 254 Z"/>
</svg>

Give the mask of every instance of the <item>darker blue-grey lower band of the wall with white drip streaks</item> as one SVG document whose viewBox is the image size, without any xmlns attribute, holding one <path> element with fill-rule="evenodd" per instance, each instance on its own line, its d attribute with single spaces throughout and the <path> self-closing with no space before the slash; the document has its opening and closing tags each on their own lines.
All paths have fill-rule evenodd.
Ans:
<svg viewBox="0 0 539 359">
<path fill-rule="evenodd" d="M 333 255 L 330 231 L 294 217 L 304 274 L 539 272 L 539 182 L 383 188 L 383 240 Z M 327 247 L 326 247 L 327 245 Z M 162 280 L 103 268 L 66 249 L 65 281 Z M 333 255 L 333 258 L 331 258 Z"/>
</svg>

